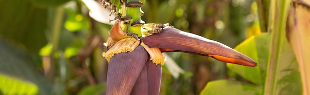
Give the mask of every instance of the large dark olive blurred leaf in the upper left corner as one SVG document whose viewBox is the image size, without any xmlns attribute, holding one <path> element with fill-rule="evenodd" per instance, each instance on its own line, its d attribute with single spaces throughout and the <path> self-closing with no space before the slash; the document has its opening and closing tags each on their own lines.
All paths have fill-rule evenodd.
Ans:
<svg viewBox="0 0 310 95">
<path fill-rule="evenodd" d="M 47 9 L 25 0 L 0 1 L 0 36 L 37 53 L 46 43 Z"/>
</svg>

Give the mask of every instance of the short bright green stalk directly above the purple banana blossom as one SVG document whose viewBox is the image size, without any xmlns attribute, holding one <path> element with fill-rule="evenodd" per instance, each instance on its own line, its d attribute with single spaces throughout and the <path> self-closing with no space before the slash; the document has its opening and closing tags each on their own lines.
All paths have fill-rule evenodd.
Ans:
<svg viewBox="0 0 310 95">
<path fill-rule="evenodd" d="M 127 5 L 128 3 L 132 3 L 132 2 L 141 2 L 140 0 L 127 0 Z M 138 36 L 142 36 L 141 33 L 141 23 L 143 23 L 143 21 L 141 20 L 141 13 L 143 13 L 141 11 L 141 6 L 127 6 L 127 10 L 126 10 L 126 16 L 131 18 L 129 24 L 128 24 L 128 32 L 132 32 L 132 33 L 136 33 L 138 34 Z M 140 25 L 139 25 L 140 24 Z"/>
</svg>

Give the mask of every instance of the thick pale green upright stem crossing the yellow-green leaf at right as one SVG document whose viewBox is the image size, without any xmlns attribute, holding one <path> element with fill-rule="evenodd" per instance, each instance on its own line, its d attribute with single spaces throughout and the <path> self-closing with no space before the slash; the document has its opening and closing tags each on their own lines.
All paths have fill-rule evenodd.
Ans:
<svg viewBox="0 0 310 95">
<path fill-rule="evenodd" d="M 291 0 L 271 0 L 269 10 L 268 31 L 271 32 L 271 45 L 269 63 L 265 82 L 264 95 L 276 94 L 278 73 L 280 64 L 280 53 L 285 39 L 285 22 L 288 16 L 288 8 Z"/>
</svg>

